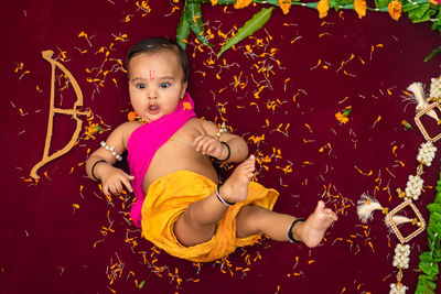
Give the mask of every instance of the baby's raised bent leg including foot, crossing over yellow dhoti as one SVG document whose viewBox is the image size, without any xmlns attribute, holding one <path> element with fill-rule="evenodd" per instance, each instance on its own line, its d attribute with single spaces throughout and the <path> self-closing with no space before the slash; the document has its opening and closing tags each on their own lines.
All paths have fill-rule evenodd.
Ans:
<svg viewBox="0 0 441 294">
<path fill-rule="evenodd" d="M 219 188 L 220 197 L 230 203 L 241 202 L 248 196 L 248 184 L 255 171 L 255 156 L 239 164 Z M 213 193 L 205 199 L 191 204 L 178 218 L 174 233 L 183 246 L 195 246 L 212 239 L 228 206 Z"/>
</svg>

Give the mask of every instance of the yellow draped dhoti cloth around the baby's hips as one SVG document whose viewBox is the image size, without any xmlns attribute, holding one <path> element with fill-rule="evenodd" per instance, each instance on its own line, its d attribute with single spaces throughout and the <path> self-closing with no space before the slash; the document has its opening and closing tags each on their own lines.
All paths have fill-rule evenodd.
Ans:
<svg viewBox="0 0 441 294">
<path fill-rule="evenodd" d="M 189 205 L 214 193 L 216 186 L 212 179 L 190 171 L 174 172 L 154 181 L 142 205 L 142 233 L 146 239 L 174 257 L 196 262 L 220 259 L 237 247 L 254 244 L 258 235 L 236 238 L 237 214 L 245 205 L 259 205 L 272 210 L 279 196 L 277 190 L 255 182 L 249 183 L 247 199 L 228 208 L 209 241 L 192 247 L 178 241 L 173 231 L 178 218 Z"/>
</svg>

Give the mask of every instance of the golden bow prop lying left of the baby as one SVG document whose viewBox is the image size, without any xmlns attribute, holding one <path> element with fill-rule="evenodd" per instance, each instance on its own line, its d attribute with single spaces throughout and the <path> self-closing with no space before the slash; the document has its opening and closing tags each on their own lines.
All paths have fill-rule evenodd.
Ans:
<svg viewBox="0 0 441 294">
<path fill-rule="evenodd" d="M 43 58 L 46 59 L 52 65 L 51 104 L 50 104 L 46 142 L 44 144 L 43 157 L 37 164 L 34 165 L 34 167 L 32 167 L 32 171 L 30 174 L 30 176 L 32 178 L 40 178 L 40 176 L 36 174 L 36 172 L 39 171 L 40 167 L 42 167 L 44 164 L 46 164 L 53 160 L 66 154 L 75 145 L 75 142 L 78 139 L 78 134 L 79 134 L 79 131 L 82 130 L 82 126 L 83 126 L 83 121 L 77 116 L 88 116 L 89 115 L 88 112 L 85 112 L 85 111 L 82 112 L 82 111 L 77 110 L 77 107 L 83 106 L 82 89 L 79 88 L 78 83 L 76 81 L 75 77 L 71 74 L 71 72 L 67 70 L 67 68 L 64 67 L 64 65 L 62 65 L 61 63 L 58 63 L 57 61 L 52 58 L 53 54 L 54 54 L 54 52 L 51 50 L 42 52 Z M 63 73 L 67 76 L 67 78 L 72 83 L 72 86 L 74 87 L 77 100 L 75 101 L 74 107 L 72 109 L 55 108 L 55 105 L 54 105 L 55 67 L 58 67 L 61 70 L 63 70 Z M 51 146 L 51 139 L 52 139 L 55 113 L 72 116 L 76 120 L 76 129 L 75 129 L 74 134 L 72 135 L 71 141 L 62 150 L 58 150 L 57 152 L 53 153 L 52 155 L 49 155 L 49 149 Z"/>
</svg>

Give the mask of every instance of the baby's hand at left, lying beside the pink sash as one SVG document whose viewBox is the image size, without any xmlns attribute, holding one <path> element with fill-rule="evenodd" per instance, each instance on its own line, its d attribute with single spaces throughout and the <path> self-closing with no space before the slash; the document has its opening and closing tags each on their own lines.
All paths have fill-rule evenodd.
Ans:
<svg viewBox="0 0 441 294">
<path fill-rule="evenodd" d="M 105 195 L 118 195 L 122 192 L 125 185 L 130 192 L 133 192 L 130 179 L 135 176 L 126 174 L 120 168 L 108 166 L 101 174 L 103 193 Z"/>
</svg>

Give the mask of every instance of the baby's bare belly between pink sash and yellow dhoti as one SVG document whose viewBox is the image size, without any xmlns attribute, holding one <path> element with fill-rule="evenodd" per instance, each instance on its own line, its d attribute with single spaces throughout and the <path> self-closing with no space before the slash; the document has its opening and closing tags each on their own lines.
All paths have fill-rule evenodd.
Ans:
<svg viewBox="0 0 441 294">
<path fill-rule="evenodd" d="M 161 176 L 171 174 L 178 171 L 191 171 L 211 178 L 214 183 L 218 182 L 216 170 L 208 156 L 202 155 L 193 148 L 182 146 L 181 150 L 158 150 L 152 159 L 149 170 L 146 173 L 143 181 L 143 189 Z"/>
</svg>

